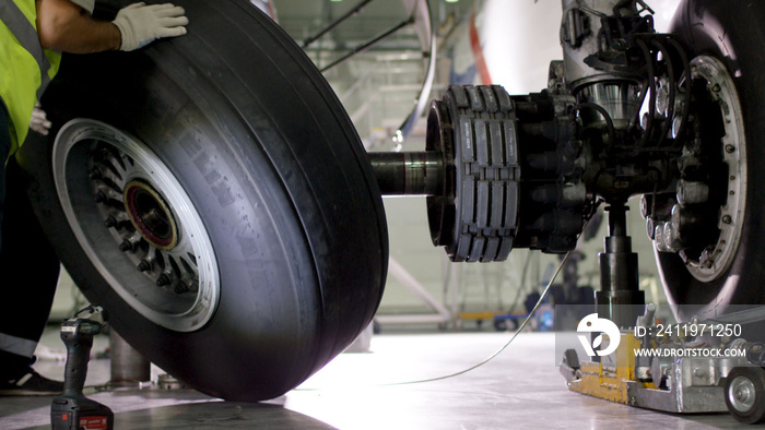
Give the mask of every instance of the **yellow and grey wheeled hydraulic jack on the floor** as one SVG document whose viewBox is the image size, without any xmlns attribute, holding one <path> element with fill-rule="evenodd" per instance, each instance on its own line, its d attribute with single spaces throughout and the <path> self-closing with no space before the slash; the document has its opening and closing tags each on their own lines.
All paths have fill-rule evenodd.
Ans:
<svg viewBox="0 0 765 430">
<path fill-rule="evenodd" d="M 600 361 L 579 361 L 575 349 L 566 350 L 561 373 L 568 389 L 669 413 L 730 411 L 741 422 L 765 420 L 765 345 L 731 336 L 738 324 L 719 320 L 656 324 L 655 309 L 646 306 L 633 329 L 612 336 L 617 346 L 595 354 Z M 608 351 L 613 339 L 601 336 L 596 347 Z"/>
</svg>

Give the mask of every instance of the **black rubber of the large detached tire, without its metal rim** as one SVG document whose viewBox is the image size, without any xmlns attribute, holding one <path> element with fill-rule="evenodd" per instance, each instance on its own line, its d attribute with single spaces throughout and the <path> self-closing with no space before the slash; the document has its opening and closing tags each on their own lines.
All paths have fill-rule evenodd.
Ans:
<svg viewBox="0 0 765 430">
<path fill-rule="evenodd" d="M 64 218 L 51 143 L 27 142 L 20 159 L 38 179 L 32 199 L 64 266 L 122 337 L 207 394 L 273 398 L 372 322 L 388 264 L 382 201 L 348 115 L 286 33 L 247 1 L 175 3 L 188 35 L 129 53 L 67 56 L 42 103 L 50 142 L 72 118 L 99 120 L 138 138 L 175 175 L 220 266 L 207 325 L 175 332 L 128 306 Z"/>
</svg>

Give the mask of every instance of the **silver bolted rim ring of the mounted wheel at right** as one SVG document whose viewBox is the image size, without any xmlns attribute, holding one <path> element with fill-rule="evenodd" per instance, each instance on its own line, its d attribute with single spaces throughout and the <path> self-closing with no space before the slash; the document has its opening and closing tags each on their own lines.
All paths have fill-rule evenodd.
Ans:
<svg viewBox="0 0 765 430">
<path fill-rule="evenodd" d="M 691 70 L 694 80 L 706 81 L 709 96 L 720 106 L 725 131 L 720 147 L 729 172 L 727 199 L 717 220 L 720 231 L 717 242 L 707 247 L 698 260 L 686 261 L 691 275 L 707 283 L 728 272 L 741 242 L 746 198 L 746 139 L 735 83 L 725 64 L 714 57 L 699 56 L 691 61 Z"/>
</svg>

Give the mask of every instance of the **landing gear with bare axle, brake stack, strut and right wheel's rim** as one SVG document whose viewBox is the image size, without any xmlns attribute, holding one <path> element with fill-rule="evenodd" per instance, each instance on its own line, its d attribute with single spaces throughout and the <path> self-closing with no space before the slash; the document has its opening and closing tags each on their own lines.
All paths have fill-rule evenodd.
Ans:
<svg viewBox="0 0 765 430">
<path fill-rule="evenodd" d="M 726 133 L 741 108 L 725 67 L 691 61 L 684 40 L 656 34 L 637 2 L 611 3 L 564 2 L 564 61 L 551 64 L 546 89 L 451 86 L 431 106 L 426 152 L 369 154 L 384 193 L 428 195 L 433 242 L 454 261 L 569 251 L 604 202 L 603 309 L 643 304 L 627 199 L 644 194 L 658 252 L 714 277 L 702 272 L 721 272 L 735 254 L 745 175 L 741 156 L 726 156 L 745 144 L 742 132 Z M 730 89 L 725 99 L 715 85 Z M 637 314 L 608 316 L 627 326 Z"/>
</svg>

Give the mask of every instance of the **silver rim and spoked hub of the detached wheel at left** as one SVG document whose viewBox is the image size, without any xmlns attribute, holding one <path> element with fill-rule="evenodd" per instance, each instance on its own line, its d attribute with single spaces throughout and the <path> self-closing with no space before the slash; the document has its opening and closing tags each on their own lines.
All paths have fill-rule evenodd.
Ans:
<svg viewBox="0 0 765 430">
<path fill-rule="evenodd" d="M 114 291 L 166 329 L 202 327 L 220 297 L 217 262 L 165 164 L 136 138 L 91 119 L 61 128 L 52 158 L 67 220 Z"/>
</svg>

